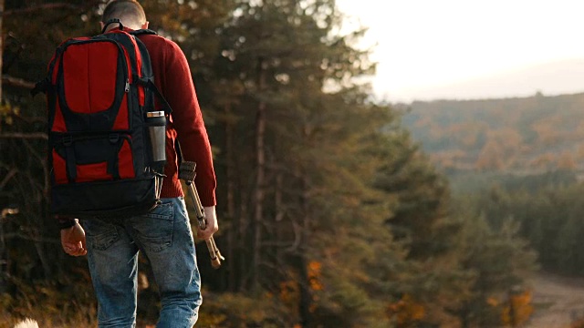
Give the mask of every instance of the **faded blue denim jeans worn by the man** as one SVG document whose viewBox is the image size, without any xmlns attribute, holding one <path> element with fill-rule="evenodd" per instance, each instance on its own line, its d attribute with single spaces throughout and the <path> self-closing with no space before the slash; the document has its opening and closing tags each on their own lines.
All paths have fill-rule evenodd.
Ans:
<svg viewBox="0 0 584 328">
<path fill-rule="evenodd" d="M 201 305 L 201 278 L 183 198 L 162 199 L 150 213 L 113 224 L 84 220 L 99 327 L 135 327 L 138 252 L 151 263 L 161 294 L 158 328 L 191 328 Z"/>
</svg>

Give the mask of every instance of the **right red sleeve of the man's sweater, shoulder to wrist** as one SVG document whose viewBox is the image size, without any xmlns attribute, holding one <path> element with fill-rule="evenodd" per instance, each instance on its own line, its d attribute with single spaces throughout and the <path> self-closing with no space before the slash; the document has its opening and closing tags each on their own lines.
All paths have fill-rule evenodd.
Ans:
<svg viewBox="0 0 584 328">
<path fill-rule="evenodd" d="M 172 41 L 164 53 L 165 74 L 162 94 L 172 108 L 172 126 L 183 151 L 183 160 L 196 163 L 195 186 L 203 206 L 215 205 L 216 180 L 211 145 L 204 127 L 203 113 L 183 50 Z"/>
</svg>

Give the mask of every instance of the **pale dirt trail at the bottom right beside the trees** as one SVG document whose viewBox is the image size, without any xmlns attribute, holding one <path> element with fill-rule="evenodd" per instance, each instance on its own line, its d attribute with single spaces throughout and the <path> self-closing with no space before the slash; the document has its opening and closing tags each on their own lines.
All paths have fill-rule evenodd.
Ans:
<svg viewBox="0 0 584 328">
<path fill-rule="evenodd" d="M 584 279 L 539 273 L 529 282 L 536 312 L 527 328 L 569 328 L 584 319 Z"/>
</svg>

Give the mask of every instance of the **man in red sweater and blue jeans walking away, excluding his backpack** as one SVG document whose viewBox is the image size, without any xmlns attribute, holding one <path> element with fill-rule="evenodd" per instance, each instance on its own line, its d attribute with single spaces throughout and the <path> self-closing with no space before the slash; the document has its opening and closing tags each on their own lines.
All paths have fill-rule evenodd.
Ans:
<svg viewBox="0 0 584 328">
<path fill-rule="evenodd" d="M 119 18 L 128 30 L 146 29 L 148 21 L 134 0 L 117 0 L 106 6 L 101 26 Z M 111 24 L 118 28 L 118 24 Z M 106 32 L 107 33 L 107 32 Z M 178 179 L 174 140 L 179 139 L 183 159 L 197 163 L 195 185 L 208 220 L 201 239 L 218 230 L 215 215 L 215 176 L 211 146 L 195 95 L 191 71 L 183 51 L 161 36 L 138 36 L 149 49 L 156 86 L 172 108 L 166 131 L 166 178 L 162 205 L 149 214 L 120 220 L 61 221 L 63 250 L 73 256 L 88 255 L 89 272 L 99 302 L 99 327 L 133 327 L 136 322 L 138 252 L 151 262 L 161 293 L 162 310 L 157 327 L 192 327 L 201 305 L 193 232 Z M 87 247 L 86 247 L 87 233 Z"/>
</svg>

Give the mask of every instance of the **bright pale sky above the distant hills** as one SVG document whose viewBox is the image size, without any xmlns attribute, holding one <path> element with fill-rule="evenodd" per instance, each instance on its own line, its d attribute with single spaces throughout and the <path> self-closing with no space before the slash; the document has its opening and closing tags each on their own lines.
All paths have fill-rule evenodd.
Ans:
<svg viewBox="0 0 584 328">
<path fill-rule="evenodd" d="M 391 102 L 584 92 L 582 0 L 337 0 Z"/>
</svg>

